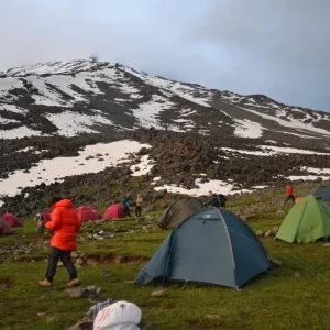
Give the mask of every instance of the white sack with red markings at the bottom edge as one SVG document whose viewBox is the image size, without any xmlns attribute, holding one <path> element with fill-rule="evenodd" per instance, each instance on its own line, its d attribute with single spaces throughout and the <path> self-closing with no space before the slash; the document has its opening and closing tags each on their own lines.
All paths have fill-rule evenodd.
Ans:
<svg viewBox="0 0 330 330">
<path fill-rule="evenodd" d="M 139 330 L 142 311 L 133 302 L 117 301 L 100 310 L 94 330 Z"/>
</svg>

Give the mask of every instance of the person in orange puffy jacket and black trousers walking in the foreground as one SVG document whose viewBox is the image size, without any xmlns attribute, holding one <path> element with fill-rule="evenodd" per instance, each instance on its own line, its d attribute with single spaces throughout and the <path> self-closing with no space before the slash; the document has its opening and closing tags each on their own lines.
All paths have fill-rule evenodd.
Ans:
<svg viewBox="0 0 330 330">
<path fill-rule="evenodd" d="M 72 252 L 77 250 L 77 231 L 81 227 L 81 221 L 77 212 L 73 209 L 73 202 L 69 199 L 54 197 L 52 200 L 51 221 L 45 223 L 47 230 L 54 231 L 51 242 L 51 254 L 48 257 L 48 267 L 44 280 L 40 280 L 41 286 L 51 286 L 56 273 L 58 260 L 69 273 L 70 282 L 68 286 L 79 285 L 80 280 L 77 270 L 72 261 Z M 37 223 L 40 226 L 40 223 Z"/>
</svg>

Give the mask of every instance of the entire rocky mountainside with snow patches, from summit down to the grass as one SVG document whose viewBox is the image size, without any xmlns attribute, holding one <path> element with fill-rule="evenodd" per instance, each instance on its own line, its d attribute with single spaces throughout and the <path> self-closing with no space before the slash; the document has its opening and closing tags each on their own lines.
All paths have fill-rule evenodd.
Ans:
<svg viewBox="0 0 330 330">
<path fill-rule="evenodd" d="M 235 194 L 329 180 L 330 114 L 120 64 L 44 63 L 0 75 L 0 213 L 54 194 L 107 202 L 105 180 L 130 190 L 134 176 L 145 194 Z"/>
</svg>

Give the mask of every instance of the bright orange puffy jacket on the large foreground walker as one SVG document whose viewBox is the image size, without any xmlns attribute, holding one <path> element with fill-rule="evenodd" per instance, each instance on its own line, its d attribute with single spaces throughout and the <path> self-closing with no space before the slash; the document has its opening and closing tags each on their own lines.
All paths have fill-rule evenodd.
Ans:
<svg viewBox="0 0 330 330">
<path fill-rule="evenodd" d="M 51 246 L 62 251 L 76 251 L 76 233 L 81 227 L 81 221 L 77 217 L 77 211 L 73 209 L 73 202 L 69 199 L 63 199 L 54 204 L 52 208 L 52 221 L 45 223 L 46 229 L 55 232 Z"/>
</svg>

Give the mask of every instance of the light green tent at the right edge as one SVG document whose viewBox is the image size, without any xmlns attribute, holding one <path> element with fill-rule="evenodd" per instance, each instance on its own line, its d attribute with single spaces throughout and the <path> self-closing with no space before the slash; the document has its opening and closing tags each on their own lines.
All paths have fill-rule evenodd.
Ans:
<svg viewBox="0 0 330 330">
<path fill-rule="evenodd" d="M 330 207 L 318 197 L 301 198 L 284 219 L 275 239 L 308 243 L 330 237 Z"/>
</svg>

